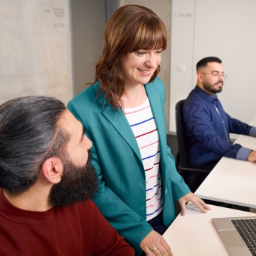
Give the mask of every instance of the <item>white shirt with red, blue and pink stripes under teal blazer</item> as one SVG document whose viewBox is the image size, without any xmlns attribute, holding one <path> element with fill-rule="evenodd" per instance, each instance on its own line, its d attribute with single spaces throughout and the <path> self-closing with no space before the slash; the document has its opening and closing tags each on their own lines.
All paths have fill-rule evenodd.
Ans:
<svg viewBox="0 0 256 256">
<path fill-rule="evenodd" d="M 141 152 L 146 178 L 146 220 L 148 221 L 163 209 L 159 137 L 148 98 L 136 108 L 125 108 L 125 117 Z"/>
</svg>

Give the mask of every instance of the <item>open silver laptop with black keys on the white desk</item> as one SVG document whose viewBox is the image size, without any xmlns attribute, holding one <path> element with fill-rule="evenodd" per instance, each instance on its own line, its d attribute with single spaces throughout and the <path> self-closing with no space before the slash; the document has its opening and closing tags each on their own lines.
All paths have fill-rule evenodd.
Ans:
<svg viewBox="0 0 256 256">
<path fill-rule="evenodd" d="M 256 217 L 212 218 L 231 256 L 256 255 Z"/>
</svg>

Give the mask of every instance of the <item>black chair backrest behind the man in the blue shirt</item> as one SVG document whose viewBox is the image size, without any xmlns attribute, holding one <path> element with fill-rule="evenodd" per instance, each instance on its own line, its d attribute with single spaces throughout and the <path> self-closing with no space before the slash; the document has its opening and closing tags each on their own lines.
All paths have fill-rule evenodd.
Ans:
<svg viewBox="0 0 256 256">
<path fill-rule="evenodd" d="M 179 148 L 179 160 L 177 160 L 178 165 L 189 166 L 189 149 L 188 143 L 186 142 L 186 133 L 184 127 L 184 118 L 183 118 L 183 105 L 184 100 L 180 100 L 176 103 L 175 106 L 175 115 L 176 115 L 176 135 Z"/>
</svg>

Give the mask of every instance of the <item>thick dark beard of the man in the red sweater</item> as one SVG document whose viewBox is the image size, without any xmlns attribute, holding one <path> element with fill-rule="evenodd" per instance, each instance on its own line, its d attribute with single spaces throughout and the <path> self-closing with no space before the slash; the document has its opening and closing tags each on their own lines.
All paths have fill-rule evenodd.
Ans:
<svg viewBox="0 0 256 256">
<path fill-rule="evenodd" d="M 90 161 L 82 167 L 75 166 L 70 158 L 62 162 L 62 179 L 60 183 L 52 186 L 48 203 L 52 207 L 65 207 L 93 199 L 98 191 L 98 181 Z"/>
</svg>

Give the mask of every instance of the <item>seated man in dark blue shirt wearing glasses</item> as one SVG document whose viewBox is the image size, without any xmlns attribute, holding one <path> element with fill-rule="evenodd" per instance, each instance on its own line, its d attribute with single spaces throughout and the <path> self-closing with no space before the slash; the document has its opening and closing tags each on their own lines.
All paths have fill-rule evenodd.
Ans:
<svg viewBox="0 0 256 256">
<path fill-rule="evenodd" d="M 227 77 L 222 60 L 206 57 L 197 63 L 196 72 L 197 85 L 183 108 L 190 164 L 210 171 L 222 156 L 256 161 L 256 151 L 229 139 L 229 133 L 256 137 L 256 128 L 231 118 L 222 108 L 217 98 Z"/>
</svg>

